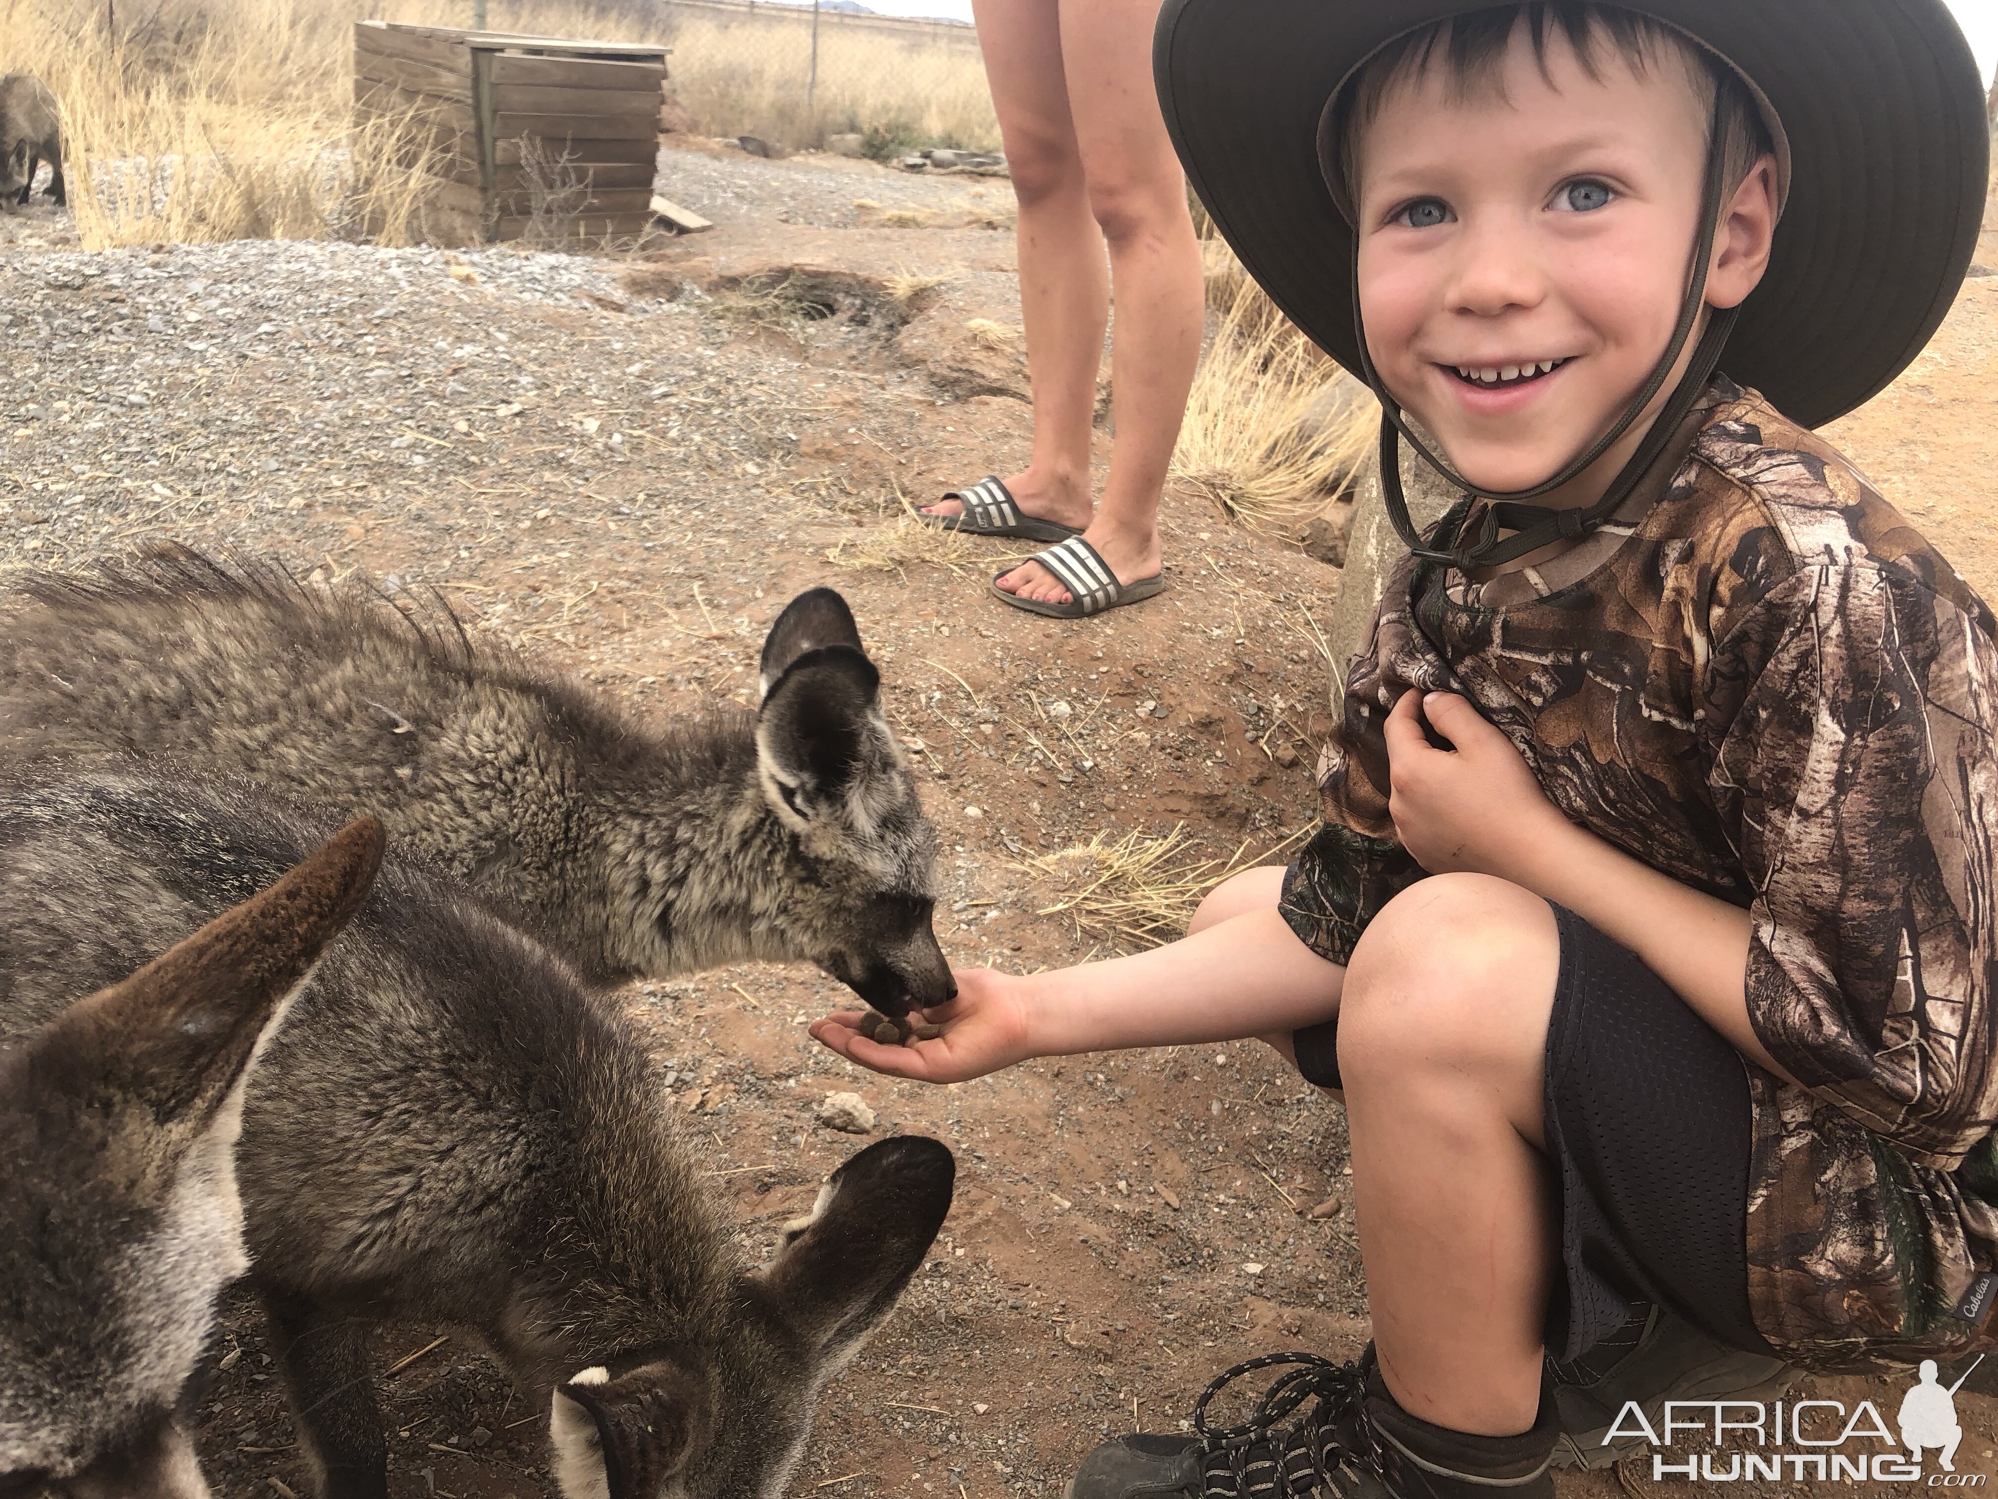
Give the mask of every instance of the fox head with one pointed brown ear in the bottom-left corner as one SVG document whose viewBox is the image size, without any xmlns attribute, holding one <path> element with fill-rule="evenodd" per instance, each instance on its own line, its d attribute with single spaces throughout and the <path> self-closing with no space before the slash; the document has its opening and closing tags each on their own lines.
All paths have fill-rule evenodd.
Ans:
<svg viewBox="0 0 1998 1499">
<path fill-rule="evenodd" d="M 54 1019 L 0 1043 L 0 1493 L 208 1493 L 178 1411 L 216 1297 L 248 1269 L 244 1081 L 380 857 L 366 819 L 100 993 L 32 983 Z M 0 925 L 32 925 L 20 899 Z M 94 973 L 192 921 L 148 925 L 150 945 Z"/>
</svg>

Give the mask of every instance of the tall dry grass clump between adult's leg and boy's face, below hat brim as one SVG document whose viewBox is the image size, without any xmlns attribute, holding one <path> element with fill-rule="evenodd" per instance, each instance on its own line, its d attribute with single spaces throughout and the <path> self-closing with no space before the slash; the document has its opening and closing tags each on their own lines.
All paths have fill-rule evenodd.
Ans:
<svg viewBox="0 0 1998 1499">
<path fill-rule="evenodd" d="M 1219 240 L 1205 242 L 1221 326 L 1201 362 L 1173 476 L 1251 526 L 1317 514 L 1365 462 L 1379 408 L 1277 312 Z"/>
</svg>

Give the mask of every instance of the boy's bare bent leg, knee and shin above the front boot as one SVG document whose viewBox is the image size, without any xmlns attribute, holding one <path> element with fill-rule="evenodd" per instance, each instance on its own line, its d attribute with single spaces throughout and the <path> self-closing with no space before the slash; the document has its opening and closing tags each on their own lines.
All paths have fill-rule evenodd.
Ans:
<svg viewBox="0 0 1998 1499">
<path fill-rule="evenodd" d="M 1544 899 L 1455 873 L 1395 897 L 1347 967 L 1339 1071 L 1375 1347 L 1401 1407 L 1453 1431 L 1512 1435 L 1538 1409 L 1558 965 Z"/>
</svg>

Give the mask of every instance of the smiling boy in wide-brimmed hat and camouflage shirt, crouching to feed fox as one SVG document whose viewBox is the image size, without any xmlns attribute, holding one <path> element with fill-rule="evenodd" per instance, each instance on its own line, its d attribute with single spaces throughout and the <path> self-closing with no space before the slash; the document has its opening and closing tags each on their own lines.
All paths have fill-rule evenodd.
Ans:
<svg viewBox="0 0 1998 1499">
<path fill-rule="evenodd" d="M 1548 1495 L 1624 1397 L 1992 1345 L 1992 616 L 1806 430 L 1970 258 L 1940 0 L 1171 0 L 1157 68 L 1221 232 L 1387 412 L 1411 554 L 1327 827 L 1181 943 L 961 973 L 907 1051 L 815 1033 L 931 1081 L 1269 1039 L 1343 1089 L 1375 1343 L 1071 1493 Z M 1429 536 L 1399 442 L 1463 492 Z"/>
</svg>

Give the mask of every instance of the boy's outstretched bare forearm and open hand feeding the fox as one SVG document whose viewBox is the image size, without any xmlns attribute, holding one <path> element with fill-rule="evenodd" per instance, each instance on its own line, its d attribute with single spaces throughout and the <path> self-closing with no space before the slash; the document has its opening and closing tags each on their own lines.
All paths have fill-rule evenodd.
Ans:
<svg viewBox="0 0 1998 1499">
<path fill-rule="evenodd" d="M 947 1027 L 933 1041 L 869 1041 L 859 1011 L 811 1033 L 863 1067 L 961 1083 L 1027 1057 L 1289 1033 L 1331 1019 L 1343 979 L 1281 913 L 1257 909 L 1133 957 L 1029 975 L 959 969 L 957 999 L 925 1011 Z"/>
</svg>

